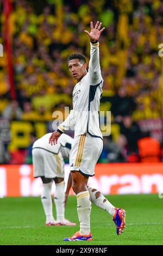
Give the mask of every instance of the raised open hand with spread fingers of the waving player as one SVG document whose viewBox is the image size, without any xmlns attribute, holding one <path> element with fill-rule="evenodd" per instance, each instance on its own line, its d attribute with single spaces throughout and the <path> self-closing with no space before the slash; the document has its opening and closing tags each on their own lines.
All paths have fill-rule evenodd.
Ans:
<svg viewBox="0 0 163 256">
<path fill-rule="evenodd" d="M 104 31 L 105 28 L 101 29 L 102 22 L 97 21 L 95 28 L 93 28 L 93 22 L 91 21 L 91 32 L 84 31 L 91 39 L 91 42 L 96 42 L 99 39 L 99 36 Z"/>
</svg>

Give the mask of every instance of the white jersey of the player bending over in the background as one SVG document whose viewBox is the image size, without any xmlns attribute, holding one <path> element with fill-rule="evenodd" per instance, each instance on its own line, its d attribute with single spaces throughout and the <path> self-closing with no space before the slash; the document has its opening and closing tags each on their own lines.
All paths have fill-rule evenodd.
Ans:
<svg viewBox="0 0 163 256">
<path fill-rule="evenodd" d="M 51 135 L 52 132 L 46 133 L 46 135 L 43 135 L 41 138 L 37 139 L 37 141 L 35 141 L 33 144 L 33 149 L 41 148 L 54 154 L 59 154 L 60 152 L 64 159 L 69 158 L 73 139 L 66 134 L 62 134 L 58 139 L 58 143 L 55 145 L 51 145 L 49 144 L 49 137 Z"/>
</svg>

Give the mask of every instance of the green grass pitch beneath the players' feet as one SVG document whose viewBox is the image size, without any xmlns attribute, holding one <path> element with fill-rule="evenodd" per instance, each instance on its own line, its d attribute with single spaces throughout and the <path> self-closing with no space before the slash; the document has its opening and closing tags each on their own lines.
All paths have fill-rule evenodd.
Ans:
<svg viewBox="0 0 163 256">
<path fill-rule="evenodd" d="M 93 241 L 73 245 L 163 245 L 163 199 L 157 194 L 107 198 L 127 211 L 125 233 L 117 236 L 108 213 L 92 206 Z M 66 218 L 78 223 L 76 197 L 68 198 Z M 39 197 L 0 199 L 0 220 L 0 245 L 72 245 L 62 239 L 79 230 L 79 225 L 46 227 Z"/>
</svg>

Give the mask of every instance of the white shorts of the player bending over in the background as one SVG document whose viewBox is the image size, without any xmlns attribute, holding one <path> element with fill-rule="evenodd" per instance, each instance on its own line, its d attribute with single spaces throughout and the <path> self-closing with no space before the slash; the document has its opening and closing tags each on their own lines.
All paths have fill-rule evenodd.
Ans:
<svg viewBox="0 0 163 256">
<path fill-rule="evenodd" d="M 61 153 L 54 154 L 45 149 L 34 148 L 32 150 L 34 177 L 64 178 L 64 159 Z"/>
</svg>

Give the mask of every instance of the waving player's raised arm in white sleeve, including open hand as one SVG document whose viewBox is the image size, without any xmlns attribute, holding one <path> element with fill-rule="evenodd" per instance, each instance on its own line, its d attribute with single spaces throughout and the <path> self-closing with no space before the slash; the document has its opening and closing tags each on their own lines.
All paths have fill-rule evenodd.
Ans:
<svg viewBox="0 0 163 256">
<path fill-rule="evenodd" d="M 102 28 L 102 22 L 97 21 L 95 28 L 93 28 L 93 22 L 91 21 L 91 32 L 84 31 L 91 40 L 91 56 L 89 62 L 89 74 L 93 78 L 92 82 L 101 82 L 101 68 L 99 64 L 99 37 L 105 28 Z"/>
</svg>

